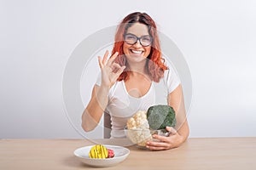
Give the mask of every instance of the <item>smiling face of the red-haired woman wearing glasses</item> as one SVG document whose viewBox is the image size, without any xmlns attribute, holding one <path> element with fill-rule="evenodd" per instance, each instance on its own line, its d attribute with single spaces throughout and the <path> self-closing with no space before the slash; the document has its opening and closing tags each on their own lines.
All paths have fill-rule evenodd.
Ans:
<svg viewBox="0 0 256 170">
<path fill-rule="evenodd" d="M 146 60 L 151 50 L 151 43 L 148 46 L 143 46 L 145 44 L 147 45 L 147 41 L 150 41 L 148 27 L 141 23 L 135 23 L 134 25 L 132 25 L 127 29 L 126 35 L 128 35 L 128 37 L 125 39 L 128 39 L 128 41 L 124 42 L 123 50 L 124 50 L 127 61 L 140 62 L 140 61 Z M 137 40 L 137 42 L 131 45 L 132 38 L 134 38 L 134 36 L 138 38 L 143 37 L 141 39 L 141 42 L 144 42 L 143 45 L 139 40 Z M 130 44 L 128 43 L 129 39 L 131 39 Z"/>
</svg>

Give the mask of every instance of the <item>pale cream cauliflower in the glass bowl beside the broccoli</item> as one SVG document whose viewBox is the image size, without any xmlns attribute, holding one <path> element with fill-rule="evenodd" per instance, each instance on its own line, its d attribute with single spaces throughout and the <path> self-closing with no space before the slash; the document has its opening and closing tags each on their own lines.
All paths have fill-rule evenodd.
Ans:
<svg viewBox="0 0 256 170">
<path fill-rule="evenodd" d="M 152 140 L 146 111 L 137 111 L 128 119 L 126 126 L 128 128 L 126 135 L 134 144 L 145 146 L 148 140 Z"/>
</svg>

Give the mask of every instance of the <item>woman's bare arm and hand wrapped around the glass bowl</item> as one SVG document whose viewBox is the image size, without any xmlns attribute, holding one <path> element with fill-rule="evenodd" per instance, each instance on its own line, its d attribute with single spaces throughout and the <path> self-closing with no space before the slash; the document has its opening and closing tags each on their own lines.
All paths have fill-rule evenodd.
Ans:
<svg viewBox="0 0 256 170">
<path fill-rule="evenodd" d="M 153 135 L 153 138 L 159 139 L 160 142 L 148 142 L 147 147 L 150 150 L 168 150 L 176 148 L 183 144 L 189 136 L 189 125 L 187 122 L 181 85 L 178 85 L 177 88 L 168 95 L 168 104 L 172 106 L 176 113 L 176 127 L 166 127 L 166 130 L 171 132 L 168 137 Z"/>
</svg>

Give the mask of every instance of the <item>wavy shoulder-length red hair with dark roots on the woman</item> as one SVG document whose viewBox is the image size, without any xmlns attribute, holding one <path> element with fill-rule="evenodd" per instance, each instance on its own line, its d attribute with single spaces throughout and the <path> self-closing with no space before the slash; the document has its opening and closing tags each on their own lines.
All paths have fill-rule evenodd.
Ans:
<svg viewBox="0 0 256 170">
<path fill-rule="evenodd" d="M 124 35 L 129 27 L 135 23 L 141 23 L 148 26 L 148 33 L 153 37 L 153 42 L 151 43 L 151 51 L 148 55 L 148 75 L 154 82 L 160 82 L 160 78 L 164 76 L 164 71 L 168 68 L 165 65 L 165 59 L 161 57 L 160 52 L 160 41 L 156 29 L 154 20 L 146 13 L 135 12 L 129 14 L 124 20 L 119 24 L 115 38 L 112 54 L 115 52 L 119 53 L 119 56 L 115 59 L 115 62 L 119 65 L 126 65 L 125 54 L 123 51 Z M 118 78 L 118 81 L 126 80 L 129 77 L 130 71 L 124 71 Z"/>
</svg>

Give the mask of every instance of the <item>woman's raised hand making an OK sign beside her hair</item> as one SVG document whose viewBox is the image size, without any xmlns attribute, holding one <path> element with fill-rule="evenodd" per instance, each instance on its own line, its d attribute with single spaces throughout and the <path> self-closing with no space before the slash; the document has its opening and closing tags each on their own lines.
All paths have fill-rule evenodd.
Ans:
<svg viewBox="0 0 256 170">
<path fill-rule="evenodd" d="M 102 86 L 111 88 L 117 81 L 120 74 L 125 70 L 125 65 L 120 66 L 114 62 L 114 59 L 118 56 L 118 52 L 113 54 L 108 59 L 108 50 L 104 54 L 103 59 L 98 56 L 99 65 L 102 71 Z M 108 59 L 108 60 L 107 60 Z"/>
</svg>

